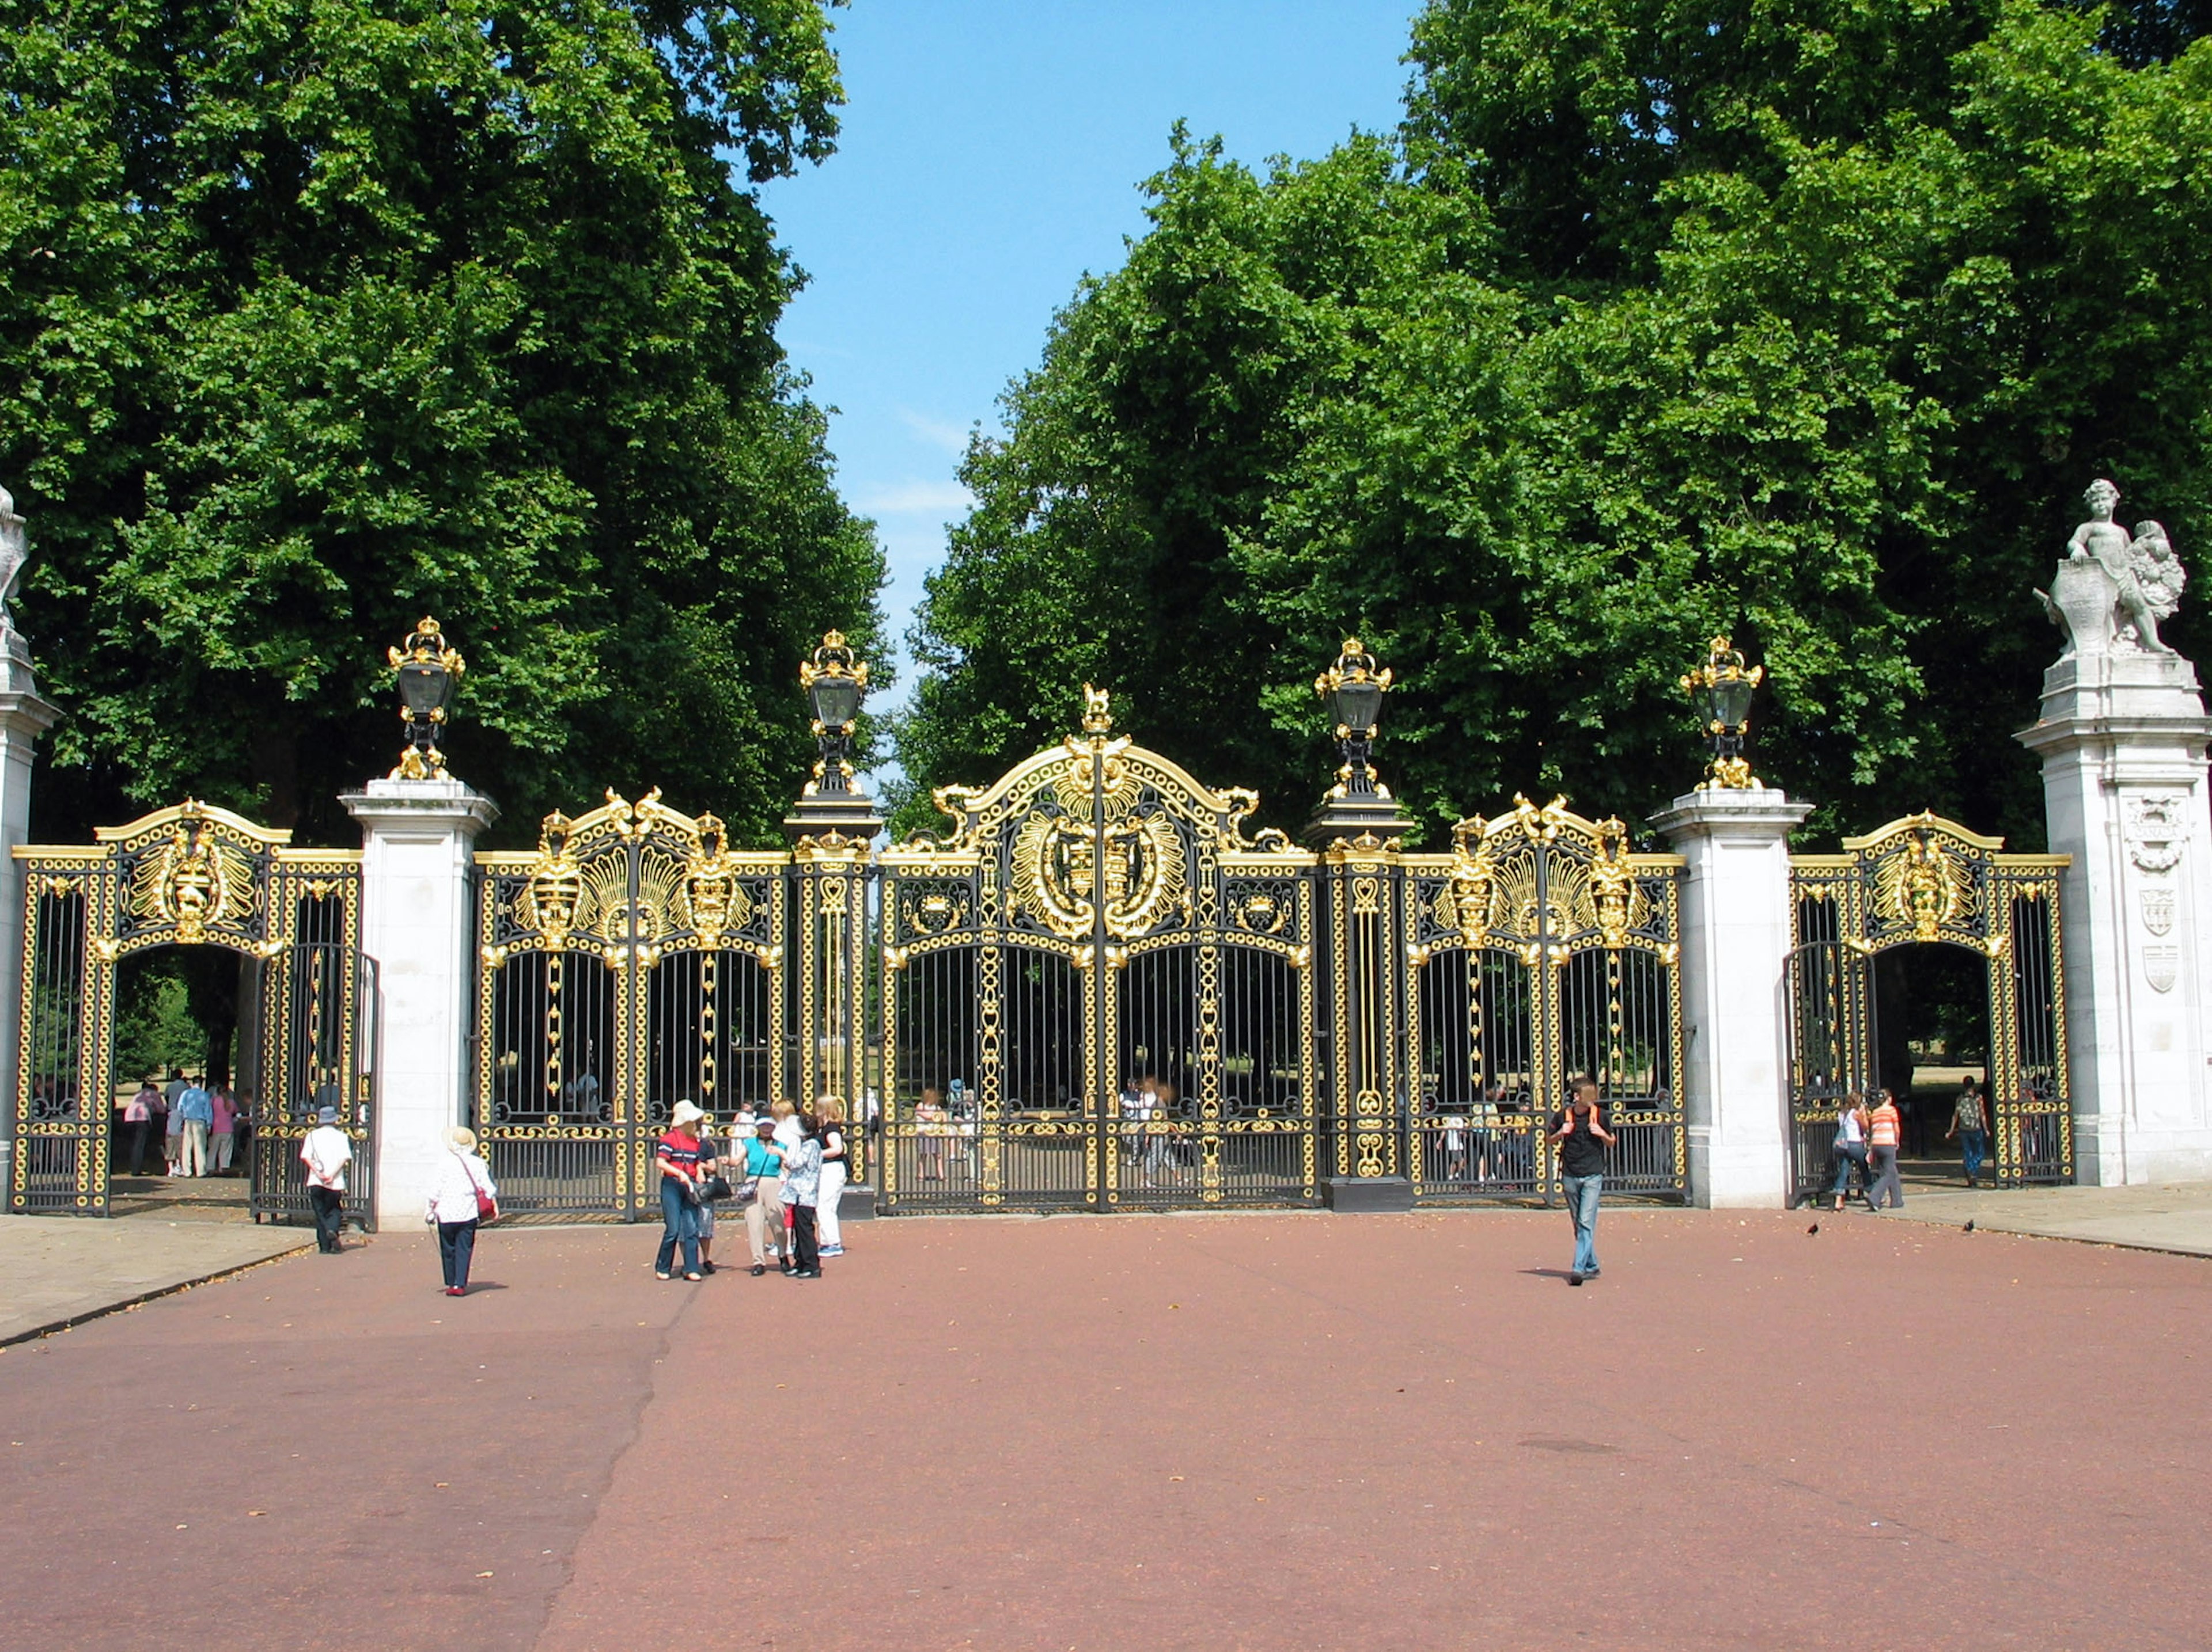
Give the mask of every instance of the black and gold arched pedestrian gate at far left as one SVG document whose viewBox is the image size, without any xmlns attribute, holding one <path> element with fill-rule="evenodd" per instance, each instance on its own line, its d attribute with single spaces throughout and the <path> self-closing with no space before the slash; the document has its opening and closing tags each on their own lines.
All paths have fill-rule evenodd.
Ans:
<svg viewBox="0 0 2212 1652">
<path fill-rule="evenodd" d="M 376 964 L 361 953 L 361 854 L 294 849 L 186 801 L 91 847 L 15 849 L 24 878 L 22 1024 L 9 1210 L 108 1212 L 117 964 L 157 947 L 239 958 L 232 1088 L 257 1219 L 305 1216 L 299 1143 L 319 1108 L 354 1139 L 347 1214 L 367 1225 L 376 1174 Z"/>
</svg>

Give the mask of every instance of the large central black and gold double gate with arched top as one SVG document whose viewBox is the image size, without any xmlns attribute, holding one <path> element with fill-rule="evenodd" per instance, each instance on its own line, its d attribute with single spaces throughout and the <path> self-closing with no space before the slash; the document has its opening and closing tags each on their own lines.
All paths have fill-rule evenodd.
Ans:
<svg viewBox="0 0 2212 1652">
<path fill-rule="evenodd" d="M 885 1210 L 1318 1199 L 1314 856 L 1110 732 L 880 856 Z"/>
</svg>

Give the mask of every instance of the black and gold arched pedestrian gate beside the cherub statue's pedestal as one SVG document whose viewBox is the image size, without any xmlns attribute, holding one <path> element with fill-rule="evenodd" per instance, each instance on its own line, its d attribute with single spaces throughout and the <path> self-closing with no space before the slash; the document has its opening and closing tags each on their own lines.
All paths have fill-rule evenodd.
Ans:
<svg viewBox="0 0 2212 1652">
<path fill-rule="evenodd" d="M 2073 1181 L 2059 874 L 2066 856 L 2004 854 L 1936 814 L 1891 820 L 1843 854 L 1792 856 L 1790 1123 L 1798 1199 L 1834 1177 L 1836 1110 L 1893 1088 L 1878 1070 L 1874 960 L 1962 947 L 1989 975 L 1991 1159 L 1997 1183 Z"/>
</svg>

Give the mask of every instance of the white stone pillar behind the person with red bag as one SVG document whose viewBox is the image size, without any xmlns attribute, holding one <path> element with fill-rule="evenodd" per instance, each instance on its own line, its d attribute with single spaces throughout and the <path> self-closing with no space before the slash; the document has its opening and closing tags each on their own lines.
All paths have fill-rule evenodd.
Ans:
<svg viewBox="0 0 2212 1652">
<path fill-rule="evenodd" d="M 347 792 L 361 823 L 361 949 L 376 960 L 376 1225 L 422 1221 L 440 1135 L 469 1097 L 476 1002 L 476 836 L 498 805 L 460 781 L 369 781 Z"/>
</svg>

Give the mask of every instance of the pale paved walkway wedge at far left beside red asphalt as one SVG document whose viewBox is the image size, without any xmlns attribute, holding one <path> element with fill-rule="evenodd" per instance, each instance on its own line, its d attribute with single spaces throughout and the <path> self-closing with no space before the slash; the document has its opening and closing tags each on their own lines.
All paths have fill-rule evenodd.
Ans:
<svg viewBox="0 0 2212 1652">
<path fill-rule="evenodd" d="M 312 1227 L 0 1216 L 0 1345 L 314 1245 Z"/>
</svg>

